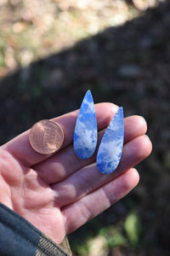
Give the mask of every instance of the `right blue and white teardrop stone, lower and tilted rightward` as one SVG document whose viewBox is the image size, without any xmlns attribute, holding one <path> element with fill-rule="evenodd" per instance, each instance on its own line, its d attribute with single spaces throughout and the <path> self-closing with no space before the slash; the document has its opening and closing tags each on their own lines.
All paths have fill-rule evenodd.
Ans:
<svg viewBox="0 0 170 256">
<path fill-rule="evenodd" d="M 121 107 L 111 119 L 99 145 L 97 166 L 100 172 L 109 174 L 116 170 L 122 156 L 123 139 L 124 121 Z"/>
</svg>

